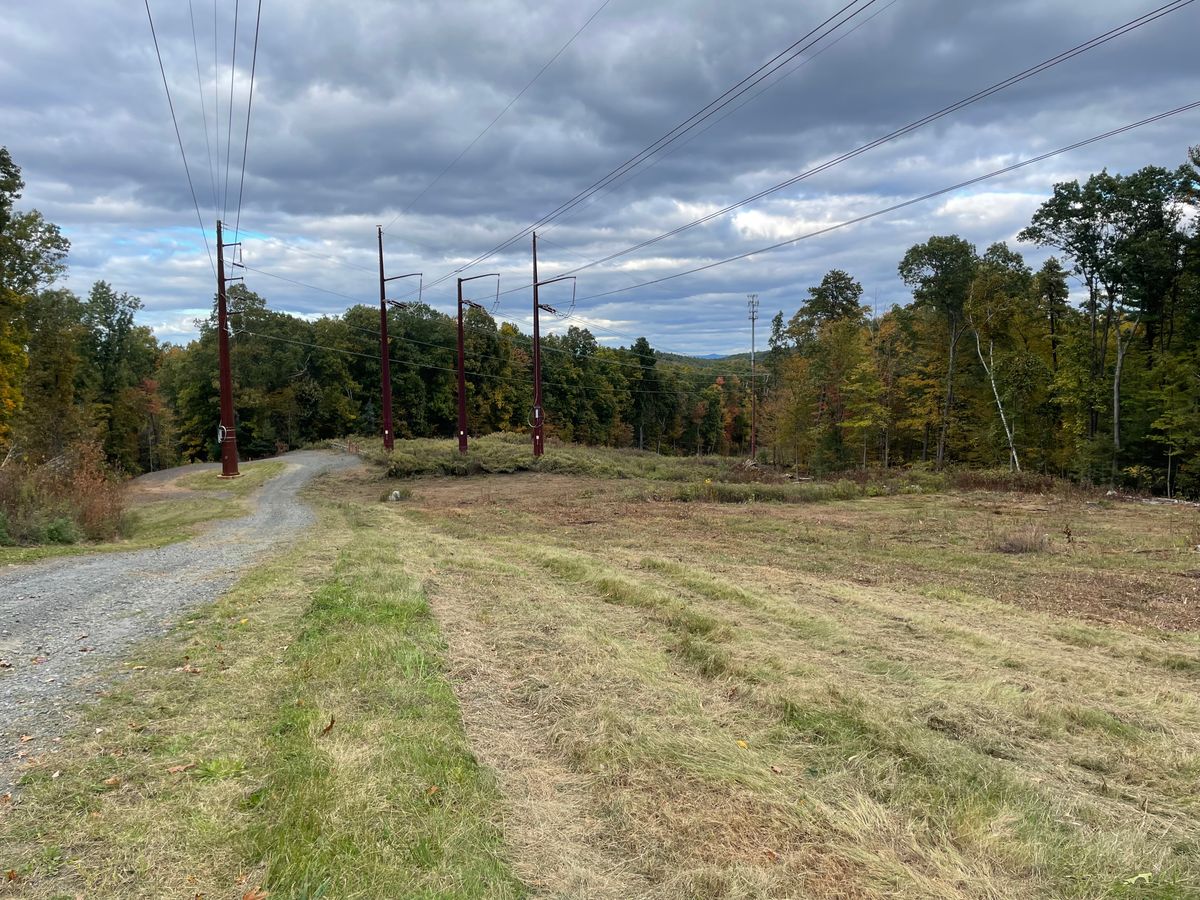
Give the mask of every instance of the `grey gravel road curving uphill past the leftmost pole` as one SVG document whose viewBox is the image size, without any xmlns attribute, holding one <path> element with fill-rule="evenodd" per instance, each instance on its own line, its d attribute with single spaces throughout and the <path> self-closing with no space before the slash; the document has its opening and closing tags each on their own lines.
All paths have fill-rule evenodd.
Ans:
<svg viewBox="0 0 1200 900">
<path fill-rule="evenodd" d="M 299 534 L 312 512 L 296 493 L 353 456 L 299 451 L 258 492 L 253 514 L 181 544 L 62 557 L 0 571 L 0 793 L 19 756 L 53 752 L 79 706 L 138 641 L 164 634 L 192 606 L 220 596 L 251 564 Z M 253 463 L 250 463 L 251 466 Z M 200 467 L 187 467 L 196 472 Z M 178 470 L 144 476 L 169 481 Z M 23 736 L 28 736 L 22 740 Z"/>
</svg>

